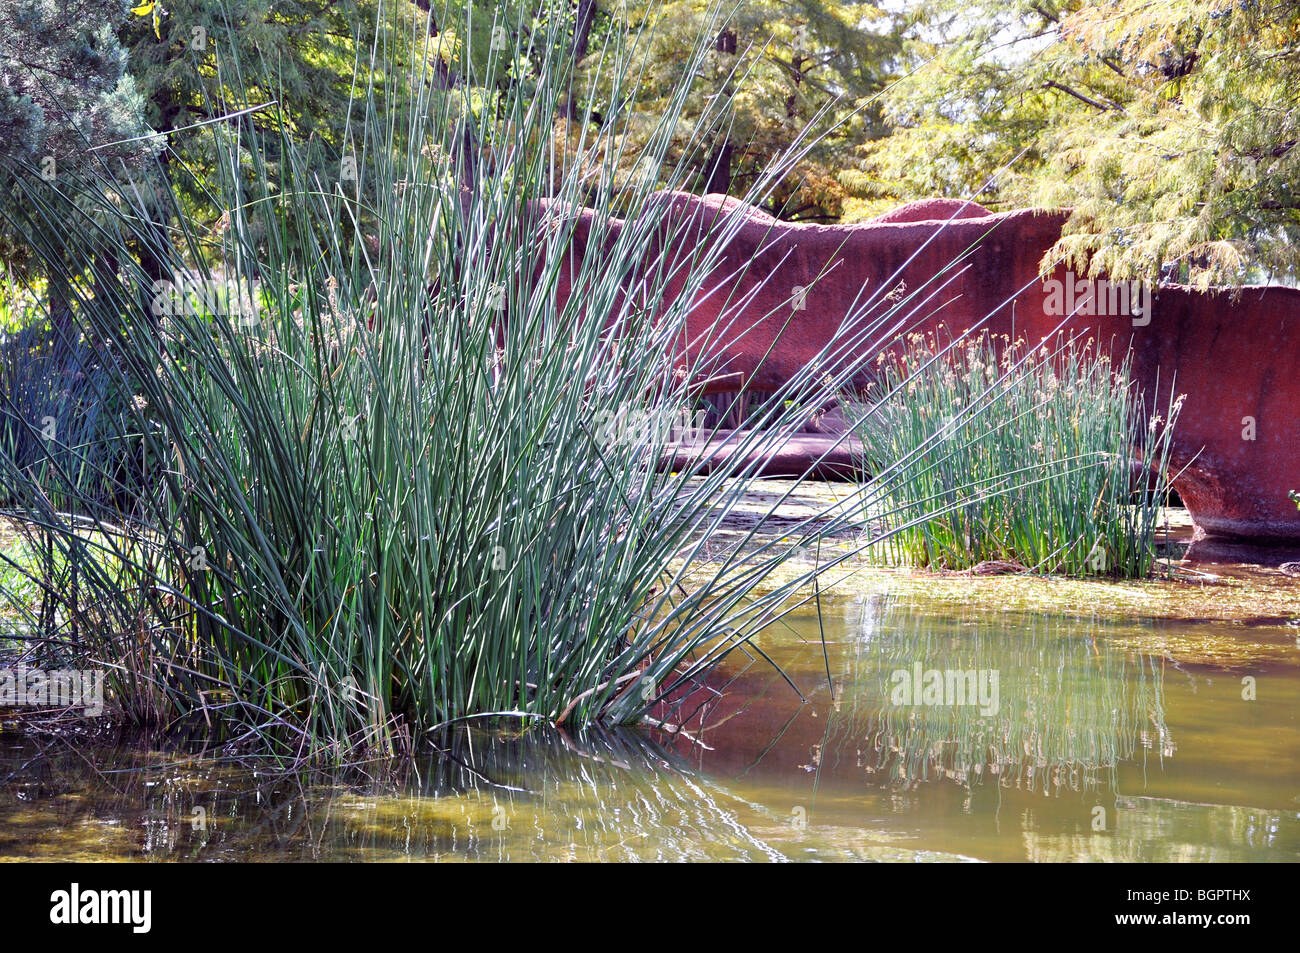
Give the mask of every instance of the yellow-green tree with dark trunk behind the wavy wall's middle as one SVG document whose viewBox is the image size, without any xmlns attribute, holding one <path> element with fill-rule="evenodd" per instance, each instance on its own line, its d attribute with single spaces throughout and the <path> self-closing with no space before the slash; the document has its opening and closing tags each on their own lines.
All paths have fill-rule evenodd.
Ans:
<svg viewBox="0 0 1300 953">
<path fill-rule="evenodd" d="M 698 168 L 698 191 L 745 191 L 807 127 L 815 142 L 781 178 L 768 211 L 806 221 L 842 213 L 853 190 L 841 172 L 859 143 L 885 133 L 875 98 L 900 53 L 890 16 L 857 0 L 746 0 L 720 14 L 707 0 L 670 0 L 653 9 L 610 4 L 601 18 L 602 29 L 640 31 L 646 70 L 633 95 L 647 131 L 686 66 L 679 38 L 716 36 L 667 157 Z M 597 118 L 614 108 L 608 91 L 590 96 Z"/>
</svg>

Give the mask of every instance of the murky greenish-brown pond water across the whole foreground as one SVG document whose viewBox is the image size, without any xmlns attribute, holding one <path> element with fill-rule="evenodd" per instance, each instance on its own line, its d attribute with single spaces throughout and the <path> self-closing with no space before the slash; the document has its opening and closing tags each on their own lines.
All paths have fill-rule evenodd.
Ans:
<svg viewBox="0 0 1300 953">
<path fill-rule="evenodd" d="M 0 736 L 0 858 L 1300 859 L 1300 629 L 823 610 L 824 651 L 760 642 L 806 702 L 737 657 L 690 738 L 462 732 L 359 784 Z"/>
</svg>

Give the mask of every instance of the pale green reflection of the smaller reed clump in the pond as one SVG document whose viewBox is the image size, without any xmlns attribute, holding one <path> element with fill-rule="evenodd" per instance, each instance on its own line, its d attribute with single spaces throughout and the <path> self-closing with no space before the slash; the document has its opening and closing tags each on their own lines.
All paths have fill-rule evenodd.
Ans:
<svg viewBox="0 0 1300 953">
<path fill-rule="evenodd" d="M 1030 790 L 1082 790 L 1139 748 L 1174 753 L 1160 659 L 1098 638 L 1095 623 L 935 619 L 880 597 L 863 606 L 859 632 L 836 733 L 890 783 L 970 784 L 987 771 Z M 932 685 L 935 703 L 914 684 Z"/>
</svg>

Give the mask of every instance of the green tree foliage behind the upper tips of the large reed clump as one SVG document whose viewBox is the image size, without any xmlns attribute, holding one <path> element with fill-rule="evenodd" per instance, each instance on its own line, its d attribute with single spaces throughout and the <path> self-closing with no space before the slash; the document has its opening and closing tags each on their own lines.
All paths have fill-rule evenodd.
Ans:
<svg viewBox="0 0 1300 953">
<path fill-rule="evenodd" d="M 177 0 L 153 7 L 125 31 L 131 70 L 144 96 L 151 126 L 168 134 L 168 170 L 183 166 L 169 185 L 188 215 L 222 220 L 226 208 L 211 189 L 225 151 L 217 142 L 231 125 L 260 135 L 261 172 L 273 187 L 291 174 L 276 135 L 294 143 L 292 161 L 326 187 L 341 181 L 344 163 L 370 161 L 367 114 L 403 114 L 412 104 L 412 77 L 428 87 L 424 107 L 452 109 L 454 118 L 502 108 L 536 82 L 542 56 L 532 36 L 572 33 L 567 5 L 526 3 L 412 3 L 410 0 Z M 238 47 L 243 62 L 222 64 L 218 51 Z M 364 75 L 372 57 L 382 69 Z M 490 75 L 489 75 L 490 72 Z M 237 120 L 244 109 L 252 109 Z M 469 150 L 482 163 L 467 164 L 467 176 L 503 143 L 476 142 L 462 126 L 454 150 Z M 400 144 L 410 129 L 385 130 Z M 237 168 L 247 183 L 256 177 L 251 156 Z M 350 179 L 374 182 L 373 176 Z M 369 208 L 355 228 L 373 234 Z M 164 203 L 165 204 L 165 203 Z M 214 243 L 204 243 L 211 252 Z"/>
</svg>

